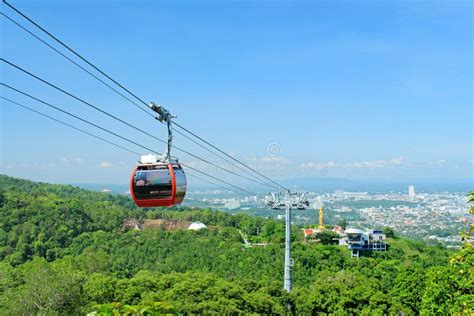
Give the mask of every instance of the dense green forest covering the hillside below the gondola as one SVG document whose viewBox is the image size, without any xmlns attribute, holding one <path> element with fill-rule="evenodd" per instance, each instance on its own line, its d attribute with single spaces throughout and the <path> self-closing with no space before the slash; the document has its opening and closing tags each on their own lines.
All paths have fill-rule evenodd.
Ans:
<svg viewBox="0 0 474 316">
<path fill-rule="evenodd" d="M 302 242 L 283 291 L 284 224 L 208 209 L 139 209 L 123 196 L 0 176 L 1 315 L 469 314 L 473 250 L 389 239 L 351 259 Z M 466 210 L 467 211 L 467 210 Z M 125 230 L 125 219 L 209 229 Z M 245 247 L 242 235 L 265 247 Z"/>
</svg>

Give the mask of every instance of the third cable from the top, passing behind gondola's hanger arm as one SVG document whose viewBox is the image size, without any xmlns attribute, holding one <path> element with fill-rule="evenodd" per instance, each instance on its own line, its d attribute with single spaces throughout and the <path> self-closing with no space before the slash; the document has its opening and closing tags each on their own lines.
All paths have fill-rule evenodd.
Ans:
<svg viewBox="0 0 474 316">
<path fill-rule="evenodd" d="M 148 132 L 146 132 L 146 131 L 144 131 L 144 130 L 142 130 L 142 129 L 140 129 L 140 128 L 138 128 L 138 127 L 136 127 L 136 126 L 134 126 L 134 125 L 132 125 L 132 124 L 130 124 L 130 123 L 127 123 L 126 121 L 124 121 L 124 120 L 122 120 L 122 119 L 116 117 L 115 115 L 112 115 L 112 114 L 110 114 L 110 113 L 108 113 L 108 112 L 102 110 L 101 108 L 99 108 L 99 107 L 97 107 L 97 106 L 95 106 L 95 105 L 93 105 L 93 104 L 91 104 L 91 103 L 89 103 L 89 102 L 87 102 L 87 101 L 85 101 L 85 100 L 83 100 L 83 99 L 81 99 L 81 98 L 79 98 L 79 97 L 77 97 L 77 96 L 75 96 L 75 95 L 73 95 L 73 94 L 67 92 L 66 90 L 64 90 L 64 89 L 62 89 L 62 88 L 60 88 L 60 87 L 58 87 L 58 86 L 56 86 L 56 85 L 50 83 L 49 81 L 47 81 L 47 80 L 45 80 L 45 79 L 42 79 L 42 78 L 36 76 L 35 74 L 29 72 L 28 70 L 23 69 L 22 67 L 20 67 L 20 66 L 18 66 L 18 65 L 15 65 L 15 64 L 11 63 L 11 62 L 8 61 L 8 60 L 5 60 L 4 58 L 0 58 L 0 61 L 3 61 L 3 62 L 5 62 L 5 63 L 7 63 L 8 65 L 10 65 L 10 66 L 12 66 L 12 67 L 14 67 L 14 68 L 16 68 L 16 69 L 22 71 L 23 73 L 25 73 L 25 74 L 27 74 L 27 75 L 29 75 L 29 76 L 35 78 L 36 80 L 39 80 L 39 81 L 43 82 L 44 84 L 46 84 L 46 85 L 48 85 L 48 86 L 50 86 L 50 87 L 52 87 L 52 88 L 54 88 L 54 89 L 56 89 L 56 90 L 58 90 L 58 91 L 60 91 L 60 92 L 62 92 L 62 93 L 64 93 L 64 94 L 70 96 L 71 98 L 73 98 L 73 99 L 75 99 L 75 100 L 77 100 L 77 101 L 79 101 L 79 102 L 81 102 L 81 103 L 83 103 L 83 104 L 85 104 L 85 105 L 87 105 L 87 106 L 89 106 L 89 107 L 91 107 L 91 108 L 93 108 L 93 109 L 95 109 L 95 110 L 101 112 L 102 114 L 105 114 L 105 115 L 107 115 L 107 116 L 109 116 L 109 117 L 111 117 L 111 118 L 113 118 L 113 119 L 119 121 L 120 123 L 127 125 L 128 127 L 131 127 L 131 128 L 133 128 L 133 129 L 135 129 L 135 130 L 137 130 L 137 131 L 139 131 L 139 132 L 141 132 L 141 133 L 143 133 L 143 134 L 145 134 L 145 135 L 147 135 L 147 136 L 149 136 L 149 137 L 151 137 L 151 138 L 154 138 L 154 139 L 160 141 L 160 142 L 163 143 L 163 144 L 167 144 L 167 143 L 168 143 L 168 142 L 166 142 L 166 141 L 164 141 L 164 140 L 162 140 L 162 139 L 156 137 L 155 135 L 152 135 L 152 134 L 150 134 L 150 133 L 148 133 Z M 11 86 L 6 85 L 6 84 L 2 84 L 2 85 L 6 86 L 6 87 L 8 87 L 8 88 L 10 88 L 10 89 L 13 89 L 13 90 L 15 90 L 15 91 L 17 91 L 17 92 L 19 92 L 19 93 L 22 93 L 22 94 L 24 94 L 24 95 L 26 95 L 26 96 L 29 96 L 26 92 L 20 91 L 20 90 L 18 90 L 18 89 L 15 89 L 15 88 L 13 88 L 13 87 L 11 87 Z M 211 162 L 211 161 L 209 161 L 209 160 L 207 160 L 207 159 L 204 159 L 204 158 L 199 157 L 199 156 L 197 156 L 197 155 L 195 155 L 195 154 L 193 154 L 193 153 L 190 153 L 189 151 L 187 151 L 187 150 L 185 150 L 185 149 L 182 149 L 182 148 L 180 148 L 180 147 L 178 147 L 178 146 L 174 146 L 174 148 L 176 148 L 177 150 L 179 150 L 179 151 L 181 151 L 181 152 L 183 152 L 183 153 L 185 153 L 185 154 L 187 154 L 187 155 L 189 155 L 189 156 L 191 156 L 191 157 L 193 157 L 193 158 L 195 158 L 195 159 L 201 160 L 201 161 L 204 162 L 204 163 L 207 163 L 207 164 L 209 164 L 209 165 L 212 165 L 212 166 L 214 166 L 214 167 L 216 167 L 216 168 L 218 168 L 218 169 L 220 169 L 220 170 L 222 170 L 222 171 L 228 172 L 228 173 L 230 173 L 230 174 L 232 174 L 232 175 L 238 176 L 238 177 L 240 177 L 240 178 L 242 178 L 242 179 L 245 179 L 245 180 L 248 180 L 248 181 L 252 181 L 252 182 L 255 182 L 255 183 L 258 183 L 258 184 L 262 184 L 262 183 L 257 182 L 256 180 L 254 180 L 254 179 L 252 179 L 252 178 L 249 178 L 249 177 L 243 176 L 243 175 L 241 175 L 241 174 L 238 174 L 238 173 L 236 173 L 236 172 L 233 172 L 233 171 L 231 171 L 231 170 L 225 169 L 225 168 L 223 168 L 223 167 L 221 167 L 221 166 L 219 166 L 219 165 L 217 165 L 217 164 L 215 164 L 215 163 L 213 163 L 213 162 Z M 265 185 L 269 186 L 268 184 L 265 184 Z"/>
</svg>

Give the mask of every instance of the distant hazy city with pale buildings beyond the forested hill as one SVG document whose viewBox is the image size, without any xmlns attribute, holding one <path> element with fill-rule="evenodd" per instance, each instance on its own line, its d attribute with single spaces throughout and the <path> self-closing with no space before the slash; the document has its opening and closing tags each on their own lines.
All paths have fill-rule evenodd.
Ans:
<svg viewBox="0 0 474 316">
<path fill-rule="evenodd" d="M 467 192 L 416 192 L 413 185 L 405 192 L 372 194 L 335 190 L 331 193 L 308 192 L 311 207 L 297 211 L 293 222 L 305 227 L 318 221 L 318 210 L 325 209 L 325 223 L 346 221 L 361 229 L 391 227 L 401 236 L 423 239 L 457 247 L 460 232 L 472 225 Z M 284 210 L 273 210 L 257 196 L 235 197 L 222 190 L 190 193 L 187 206 L 207 206 L 231 213 L 249 212 L 263 217 L 284 219 Z"/>
</svg>

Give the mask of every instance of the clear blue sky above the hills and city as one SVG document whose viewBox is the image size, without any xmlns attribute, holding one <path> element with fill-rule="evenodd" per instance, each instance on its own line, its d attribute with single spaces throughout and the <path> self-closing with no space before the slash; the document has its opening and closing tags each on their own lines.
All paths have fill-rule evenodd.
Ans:
<svg viewBox="0 0 474 316">
<path fill-rule="evenodd" d="M 182 125 L 275 178 L 474 177 L 471 1 L 11 3 Z M 0 20 L 2 57 L 166 137 L 163 126 Z M 8 66 L 0 70 L 4 82 L 163 151 Z M 7 89 L 1 94 L 84 126 Z M 136 156 L 0 103 L 1 173 L 127 181 Z M 207 155 L 179 135 L 176 144 Z"/>
</svg>

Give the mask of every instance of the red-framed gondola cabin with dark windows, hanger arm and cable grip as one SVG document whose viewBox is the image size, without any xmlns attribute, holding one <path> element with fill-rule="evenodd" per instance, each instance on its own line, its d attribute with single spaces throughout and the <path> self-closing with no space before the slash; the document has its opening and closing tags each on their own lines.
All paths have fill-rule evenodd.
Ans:
<svg viewBox="0 0 474 316">
<path fill-rule="evenodd" d="M 130 194 L 139 207 L 181 204 L 186 195 L 186 175 L 178 159 L 171 157 L 173 141 L 172 116 L 164 107 L 154 104 L 157 120 L 168 127 L 168 146 L 164 155 L 143 155 L 130 176 Z"/>
</svg>

